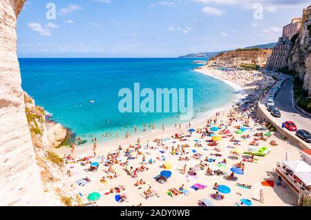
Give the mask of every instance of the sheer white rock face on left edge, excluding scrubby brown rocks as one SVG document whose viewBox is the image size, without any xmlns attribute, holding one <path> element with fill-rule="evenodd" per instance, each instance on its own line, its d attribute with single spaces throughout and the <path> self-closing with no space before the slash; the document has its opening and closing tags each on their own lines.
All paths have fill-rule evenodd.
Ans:
<svg viewBox="0 0 311 220">
<path fill-rule="evenodd" d="M 0 1 L 0 206 L 46 205 L 16 53 L 16 20 L 25 1 Z"/>
</svg>

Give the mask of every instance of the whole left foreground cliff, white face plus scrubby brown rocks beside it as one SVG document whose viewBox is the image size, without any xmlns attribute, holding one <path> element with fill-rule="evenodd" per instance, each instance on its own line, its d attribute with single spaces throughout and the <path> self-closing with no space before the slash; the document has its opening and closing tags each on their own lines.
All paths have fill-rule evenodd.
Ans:
<svg viewBox="0 0 311 220">
<path fill-rule="evenodd" d="M 64 198 L 75 205 L 77 190 L 53 152 L 66 130 L 47 124 L 21 89 L 16 25 L 25 1 L 0 1 L 0 206 L 62 206 Z"/>
</svg>

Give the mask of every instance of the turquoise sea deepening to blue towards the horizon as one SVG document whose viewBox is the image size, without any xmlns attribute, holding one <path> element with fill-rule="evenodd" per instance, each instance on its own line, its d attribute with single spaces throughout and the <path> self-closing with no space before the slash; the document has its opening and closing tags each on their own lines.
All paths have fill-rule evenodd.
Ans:
<svg viewBox="0 0 311 220">
<path fill-rule="evenodd" d="M 124 135 L 144 123 L 160 128 L 179 123 L 178 113 L 121 113 L 118 91 L 140 88 L 193 88 L 194 110 L 223 106 L 234 97 L 234 89 L 218 79 L 194 71 L 194 59 L 19 59 L 22 88 L 36 104 L 53 114 L 81 136 L 111 132 Z M 90 103 L 94 100 L 94 103 Z M 196 117 L 195 115 L 195 117 Z M 186 122 L 186 121 L 182 121 Z"/>
</svg>

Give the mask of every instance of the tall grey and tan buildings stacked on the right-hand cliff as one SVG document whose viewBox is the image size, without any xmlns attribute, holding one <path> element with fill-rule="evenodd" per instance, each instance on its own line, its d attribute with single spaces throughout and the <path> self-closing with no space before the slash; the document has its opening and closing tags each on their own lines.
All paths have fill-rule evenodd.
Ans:
<svg viewBox="0 0 311 220">
<path fill-rule="evenodd" d="M 299 32 L 301 28 L 301 18 L 294 18 L 292 22 L 283 27 L 282 37 L 279 42 L 274 46 L 271 57 L 267 60 L 265 69 L 269 71 L 279 70 L 287 66 L 288 53 L 292 47 L 292 37 Z"/>
</svg>

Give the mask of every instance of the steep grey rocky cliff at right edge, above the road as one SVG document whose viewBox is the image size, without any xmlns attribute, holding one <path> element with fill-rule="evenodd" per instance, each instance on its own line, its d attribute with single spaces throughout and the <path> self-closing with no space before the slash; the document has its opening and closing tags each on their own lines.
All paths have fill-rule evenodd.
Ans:
<svg viewBox="0 0 311 220">
<path fill-rule="evenodd" d="M 288 55 L 288 69 L 294 70 L 311 96 L 311 24 L 302 27 Z"/>
</svg>

